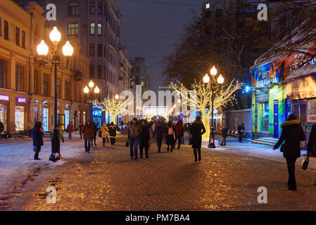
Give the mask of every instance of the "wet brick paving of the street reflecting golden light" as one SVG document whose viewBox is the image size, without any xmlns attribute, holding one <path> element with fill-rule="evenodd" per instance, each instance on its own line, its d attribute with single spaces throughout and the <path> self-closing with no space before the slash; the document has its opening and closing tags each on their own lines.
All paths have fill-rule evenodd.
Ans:
<svg viewBox="0 0 316 225">
<path fill-rule="evenodd" d="M 115 146 L 84 153 L 75 137 L 77 158 L 58 167 L 39 165 L 23 190 L 8 191 L 6 210 L 316 210 L 316 170 L 296 168 L 298 191 L 287 191 L 284 162 L 224 150 L 202 150 L 194 163 L 190 146 L 130 160 L 126 136 Z M 230 143 L 231 147 L 239 143 Z M 247 143 L 243 143 L 247 145 Z M 80 149 L 82 145 L 82 149 Z M 16 184 L 20 184 L 17 180 Z M 56 188 L 56 204 L 46 203 L 46 188 Z M 258 187 L 267 187 L 259 204 Z M 4 196 L 4 195 L 3 195 Z M 1 197 L 0 197 L 1 200 Z"/>
</svg>

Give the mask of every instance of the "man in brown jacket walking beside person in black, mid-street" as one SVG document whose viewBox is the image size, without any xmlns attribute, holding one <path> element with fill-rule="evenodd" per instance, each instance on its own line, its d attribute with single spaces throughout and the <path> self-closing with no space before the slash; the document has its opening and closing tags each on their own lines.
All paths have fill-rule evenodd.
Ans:
<svg viewBox="0 0 316 225">
<path fill-rule="evenodd" d="M 127 127 L 128 136 L 129 136 L 129 151 L 131 159 L 138 159 L 138 153 L 137 153 L 137 144 L 138 144 L 138 138 L 139 134 L 141 134 L 141 127 L 137 123 L 137 118 L 135 117 L 132 120 L 132 123 L 129 123 Z"/>
</svg>

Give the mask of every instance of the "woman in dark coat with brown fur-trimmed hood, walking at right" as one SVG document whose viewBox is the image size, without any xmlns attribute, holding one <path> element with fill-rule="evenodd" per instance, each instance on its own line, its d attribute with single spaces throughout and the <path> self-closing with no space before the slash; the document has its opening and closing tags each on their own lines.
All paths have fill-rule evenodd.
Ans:
<svg viewBox="0 0 316 225">
<path fill-rule="evenodd" d="M 282 134 L 279 141 L 274 146 L 273 150 L 281 147 L 283 156 L 286 159 L 286 164 L 289 172 L 289 181 L 287 183 L 290 191 L 296 191 L 295 180 L 295 162 L 301 157 L 301 141 L 305 141 L 305 134 L 301 127 L 301 122 L 296 120 L 296 115 L 291 114 L 286 122 L 281 125 Z"/>
</svg>

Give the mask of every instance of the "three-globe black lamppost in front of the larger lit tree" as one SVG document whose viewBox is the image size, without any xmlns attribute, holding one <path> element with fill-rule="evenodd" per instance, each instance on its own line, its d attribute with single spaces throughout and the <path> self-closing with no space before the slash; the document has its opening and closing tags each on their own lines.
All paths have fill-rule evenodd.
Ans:
<svg viewBox="0 0 316 225">
<path fill-rule="evenodd" d="M 214 91 L 216 84 L 224 84 L 224 77 L 222 75 L 218 76 L 217 79 L 215 79 L 217 75 L 217 70 L 215 66 L 210 70 L 210 75 L 212 78 L 208 77 L 206 74 L 203 77 L 204 84 L 208 84 L 210 82 L 210 90 L 212 91 L 212 97 L 211 97 L 211 104 L 212 104 L 212 117 L 211 117 L 211 127 L 210 127 L 210 138 L 208 140 L 208 148 L 216 148 L 215 146 L 215 134 L 214 134 Z M 211 143 L 211 139 L 213 138 L 213 142 Z"/>
</svg>

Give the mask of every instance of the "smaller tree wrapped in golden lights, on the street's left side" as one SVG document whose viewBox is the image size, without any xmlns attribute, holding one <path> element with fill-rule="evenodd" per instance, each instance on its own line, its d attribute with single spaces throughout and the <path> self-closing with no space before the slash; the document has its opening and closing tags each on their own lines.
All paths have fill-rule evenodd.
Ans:
<svg viewBox="0 0 316 225">
<path fill-rule="evenodd" d="M 103 112 L 107 112 L 108 115 L 110 115 L 110 122 L 113 122 L 116 125 L 115 118 L 125 112 L 128 101 L 122 100 L 118 98 L 118 96 L 115 96 L 115 98 L 106 97 L 101 102 L 95 99 L 92 101 L 92 104 Z"/>
</svg>

